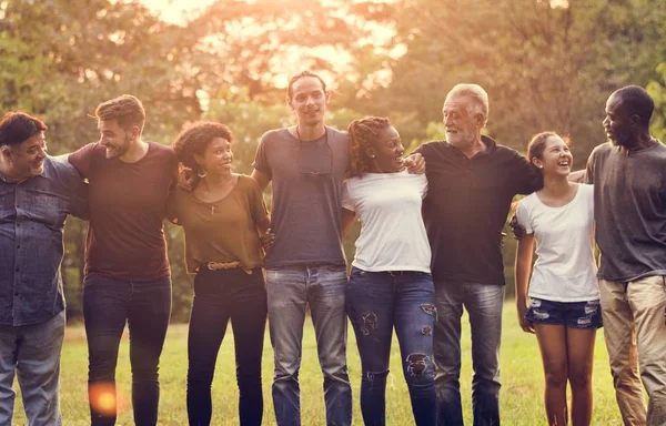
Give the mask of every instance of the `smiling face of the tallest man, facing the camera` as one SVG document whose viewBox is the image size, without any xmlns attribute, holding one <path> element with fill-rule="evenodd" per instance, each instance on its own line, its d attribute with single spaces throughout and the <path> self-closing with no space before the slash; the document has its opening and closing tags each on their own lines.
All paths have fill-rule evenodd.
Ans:
<svg viewBox="0 0 666 426">
<path fill-rule="evenodd" d="M 324 122 L 329 93 L 316 77 L 302 77 L 293 82 L 289 104 L 299 123 L 314 126 Z"/>
</svg>

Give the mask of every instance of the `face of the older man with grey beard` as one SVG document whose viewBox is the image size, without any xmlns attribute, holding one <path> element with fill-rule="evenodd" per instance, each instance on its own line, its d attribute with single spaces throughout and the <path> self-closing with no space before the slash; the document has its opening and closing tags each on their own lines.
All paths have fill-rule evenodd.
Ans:
<svg viewBox="0 0 666 426">
<path fill-rule="evenodd" d="M 483 114 L 475 109 L 468 95 L 454 94 L 446 98 L 442 115 L 446 126 L 446 142 L 454 146 L 468 146 L 481 138 Z"/>
</svg>

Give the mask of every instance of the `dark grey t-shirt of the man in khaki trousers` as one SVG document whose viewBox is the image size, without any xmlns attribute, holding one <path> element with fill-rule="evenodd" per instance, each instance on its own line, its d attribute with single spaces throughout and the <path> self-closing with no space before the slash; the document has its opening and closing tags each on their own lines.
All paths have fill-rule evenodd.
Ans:
<svg viewBox="0 0 666 426">
<path fill-rule="evenodd" d="M 594 184 L 598 276 L 629 282 L 666 275 L 666 146 L 627 152 L 610 142 L 587 161 Z"/>
</svg>

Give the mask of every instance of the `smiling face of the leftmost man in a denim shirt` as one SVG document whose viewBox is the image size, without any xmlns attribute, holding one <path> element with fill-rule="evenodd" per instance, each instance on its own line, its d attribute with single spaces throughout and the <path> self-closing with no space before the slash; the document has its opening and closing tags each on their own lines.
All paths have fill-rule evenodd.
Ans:
<svg viewBox="0 0 666 426">
<path fill-rule="evenodd" d="M 9 160 L 10 168 L 6 172 L 10 178 L 23 180 L 41 174 L 47 158 L 44 132 L 39 132 L 18 145 L 2 146 L 2 155 Z"/>
</svg>

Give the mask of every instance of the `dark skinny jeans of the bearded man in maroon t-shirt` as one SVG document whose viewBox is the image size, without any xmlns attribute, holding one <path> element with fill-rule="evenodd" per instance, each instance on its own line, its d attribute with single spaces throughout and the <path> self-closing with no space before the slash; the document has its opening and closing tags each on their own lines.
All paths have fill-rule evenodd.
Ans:
<svg viewBox="0 0 666 426">
<path fill-rule="evenodd" d="M 115 424 L 115 365 L 125 323 L 130 329 L 132 407 L 137 426 L 158 423 L 158 368 L 171 315 L 171 278 L 149 282 L 89 274 L 83 280 L 83 322 L 88 337 L 88 397 L 93 426 Z"/>
</svg>

